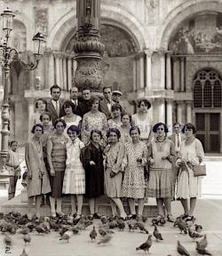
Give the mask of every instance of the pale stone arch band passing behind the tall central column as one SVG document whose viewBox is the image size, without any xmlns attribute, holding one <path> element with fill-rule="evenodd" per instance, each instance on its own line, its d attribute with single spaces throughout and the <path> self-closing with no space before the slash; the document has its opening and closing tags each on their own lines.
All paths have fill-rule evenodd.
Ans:
<svg viewBox="0 0 222 256">
<path fill-rule="evenodd" d="M 146 31 L 149 39 L 145 40 L 143 36 L 145 31 L 142 24 L 130 12 L 120 10 L 115 6 L 101 4 L 101 22 L 123 28 L 133 38 L 139 51 L 151 48 L 151 37 Z M 60 51 L 62 45 L 70 39 L 71 32 L 76 28 L 76 24 L 76 10 L 73 8 L 63 15 L 50 31 L 47 38 L 47 48 L 51 48 L 53 45 L 53 50 Z M 66 39 L 66 37 L 69 38 Z"/>
</svg>

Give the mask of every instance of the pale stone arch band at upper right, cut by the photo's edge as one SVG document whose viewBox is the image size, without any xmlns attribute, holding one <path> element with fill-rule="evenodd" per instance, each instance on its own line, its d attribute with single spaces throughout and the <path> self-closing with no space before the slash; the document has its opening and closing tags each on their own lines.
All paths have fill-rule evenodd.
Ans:
<svg viewBox="0 0 222 256">
<path fill-rule="evenodd" d="M 156 36 L 155 48 L 168 50 L 170 36 L 182 21 L 191 18 L 198 12 L 218 12 L 220 9 L 222 9 L 222 3 L 219 3 L 218 1 L 190 0 L 184 4 L 180 4 L 176 9 L 170 12 L 167 18 L 163 21 L 163 24 L 166 25 L 162 27 L 158 36 Z"/>
</svg>

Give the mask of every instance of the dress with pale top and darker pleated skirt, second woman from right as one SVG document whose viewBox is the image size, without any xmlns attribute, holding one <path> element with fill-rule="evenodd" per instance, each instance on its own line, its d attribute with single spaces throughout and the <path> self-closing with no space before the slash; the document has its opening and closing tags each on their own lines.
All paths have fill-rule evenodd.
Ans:
<svg viewBox="0 0 222 256">
<path fill-rule="evenodd" d="M 163 160 L 163 156 L 169 156 Z M 159 142 L 153 140 L 148 149 L 148 159 L 154 159 L 155 164 L 149 168 L 147 196 L 155 198 L 169 198 L 173 196 L 172 162 L 175 161 L 176 152 L 171 140 Z"/>
</svg>

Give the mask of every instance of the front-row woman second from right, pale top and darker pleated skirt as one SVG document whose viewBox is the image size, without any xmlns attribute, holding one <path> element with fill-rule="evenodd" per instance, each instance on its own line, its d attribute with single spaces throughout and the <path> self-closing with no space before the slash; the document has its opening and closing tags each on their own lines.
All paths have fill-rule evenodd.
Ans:
<svg viewBox="0 0 222 256">
<path fill-rule="evenodd" d="M 176 157 L 174 144 L 167 139 L 168 128 L 163 123 L 155 124 L 156 133 L 148 148 L 149 180 L 147 196 L 155 197 L 158 209 L 157 220 L 164 219 L 163 204 L 167 210 L 167 220 L 174 222 L 171 214 L 171 198 L 173 196 L 172 162 Z"/>
</svg>

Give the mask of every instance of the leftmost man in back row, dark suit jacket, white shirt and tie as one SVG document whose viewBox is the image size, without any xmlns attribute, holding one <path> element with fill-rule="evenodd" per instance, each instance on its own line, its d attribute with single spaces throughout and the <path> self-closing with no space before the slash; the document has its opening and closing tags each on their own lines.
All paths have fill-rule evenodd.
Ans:
<svg viewBox="0 0 222 256">
<path fill-rule="evenodd" d="M 62 101 L 59 100 L 61 95 L 61 88 L 58 84 L 52 85 L 50 88 L 52 99 L 49 100 L 47 103 L 47 109 L 52 115 L 52 124 L 55 123 L 55 120 L 61 116 L 65 116 L 66 113 L 62 108 Z"/>
</svg>

